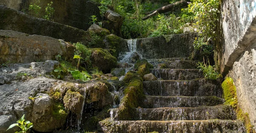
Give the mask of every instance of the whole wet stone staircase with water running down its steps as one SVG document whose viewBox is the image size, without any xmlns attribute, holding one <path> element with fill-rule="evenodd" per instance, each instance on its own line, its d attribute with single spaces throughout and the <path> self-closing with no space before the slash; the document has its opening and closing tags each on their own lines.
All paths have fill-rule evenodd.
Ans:
<svg viewBox="0 0 256 133">
<path fill-rule="evenodd" d="M 105 119 L 105 133 L 245 133 L 236 113 L 225 105 L 220 82 L 203 79 L 196 61 L 150 59 L 158 80 L 144 81 L 145 100 L 132 121 L 119 119 L 118 109 Z M 157 68 L 165 64 L 165 69 Z M 107 123 L 107 124 L 106 124 Z M 155 133 L 154 132 L 154 133 Z"/>
</svg>

